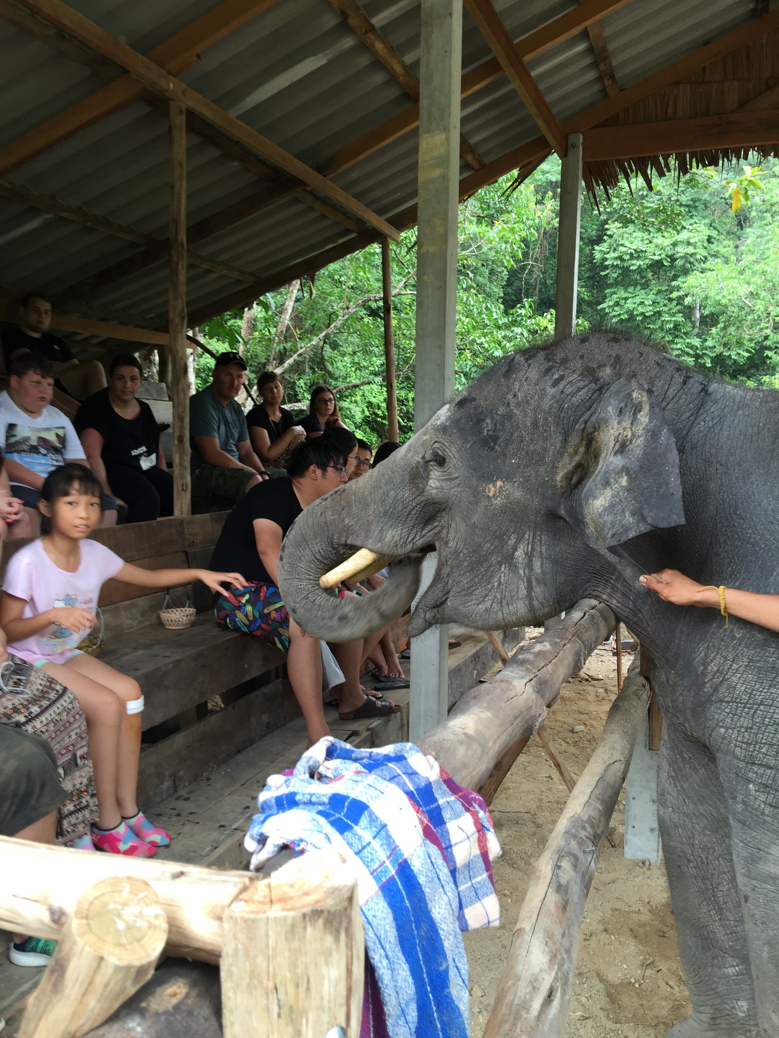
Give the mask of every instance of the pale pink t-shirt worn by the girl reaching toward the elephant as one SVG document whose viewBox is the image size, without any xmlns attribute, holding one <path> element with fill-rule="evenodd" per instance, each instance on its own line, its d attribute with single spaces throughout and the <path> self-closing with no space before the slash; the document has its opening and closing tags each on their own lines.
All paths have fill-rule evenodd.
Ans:
<svg viewBox="0 0 779 1038">
<path fill-rule="evenodd" d="M 69 573 L 54 565 L 43 542 L 37 540 L 26 544 L 8 559 L 3 591 L 24 599 L 23 619 L 65 605 L 78 605 L 93 614 L 100 589 L 106 580 L 115 577 L 124 565 L 124 559 L 105 545 L 82 541 L 79 568 Z M 62 663 L 88 634 L 88 630 L 71 631 L 52 624 L 33 637 L 9 641 L 8 652 L 30 663 L 38 659 Z"/>
</svg>

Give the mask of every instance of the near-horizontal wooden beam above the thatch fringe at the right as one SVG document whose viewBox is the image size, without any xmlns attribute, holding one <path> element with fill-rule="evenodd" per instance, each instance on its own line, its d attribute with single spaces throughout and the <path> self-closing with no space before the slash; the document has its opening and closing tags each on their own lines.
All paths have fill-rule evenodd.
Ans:
<svg viewBox="0 0 779 1038">
<path fill-rule="evenodd" d="M 584 134 L 585 162 L 639 159 L 674 152 L 779 144 L 779 111 L 731 112 L 622 127 L 596 127 Z"/>
</svg>

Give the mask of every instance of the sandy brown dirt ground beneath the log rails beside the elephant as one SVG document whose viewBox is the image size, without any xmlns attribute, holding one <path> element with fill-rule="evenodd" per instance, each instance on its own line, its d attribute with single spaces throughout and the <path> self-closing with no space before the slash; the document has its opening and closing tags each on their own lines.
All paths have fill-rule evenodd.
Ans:
<svg viewBox="0 0 779 1038">
<path fill-rule="evenodd" d="M 537 631 L 530 631 L 530 636 Z M 625 671 L 633 656 L 625 654 Z M 546 729 L 577 777 L 595 745 L 614 696 L 616 657 L 598 649 L 563 686 Z M 574 733 L 574 727 L 584 731 Z M 511 933 L 536 859 L 560 816 L 567 792 L 538 739 L 520 754 L 491 812 L 503 855 L 493 865 L 501 926 L 466 933 L 473 1038 L 481 1038 Z M 567 1038 L 662 1038 L 690 1014 L 665 870 L 623 857 L 624 791 L 612 816 L 587 900 L 566 1029 Z"/>
</svg>

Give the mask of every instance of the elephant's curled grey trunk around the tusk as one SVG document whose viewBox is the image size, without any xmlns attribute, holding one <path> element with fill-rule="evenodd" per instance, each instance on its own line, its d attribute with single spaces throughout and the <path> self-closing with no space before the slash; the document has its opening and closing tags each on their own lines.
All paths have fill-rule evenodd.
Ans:
<svg viewBox="0 0 779 1038">
<path fill-rule="evenodd" d="M 364 546 L 352 517 L 373 514 L 371 492 L 367 476 L 334 490 L 310 504 L 285 538 L 278 559 L 281 596 L 292 618 L 314 637 L 364 638 L 401 617 L 417 594 L 419 558 L 392 563 L 386 582 L 370 595 L 340 599 L 334 590 L 320 584 L 325 574 Z"/>
</svg>

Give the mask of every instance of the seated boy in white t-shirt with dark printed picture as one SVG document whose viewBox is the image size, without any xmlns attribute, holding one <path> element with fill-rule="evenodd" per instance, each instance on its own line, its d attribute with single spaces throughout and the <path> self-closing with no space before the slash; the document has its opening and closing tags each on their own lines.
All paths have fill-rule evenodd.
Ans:
<svg viewBox="0 0 779 1038">
<path fill-rule="evenodd" d="M 54 371 L 50 361 L 25 353 L 10 366 L 8 389 L 0 393 L 0 446 L 15 497 L 24 502 L 31 532 L 41 532 L 37 504 L 44 480 L 68 462 L 89 468 L 71 419 L 51 406 Z M 101 526 L 116 524 L 116 501 L 105 496 Z"/>
</svg>

